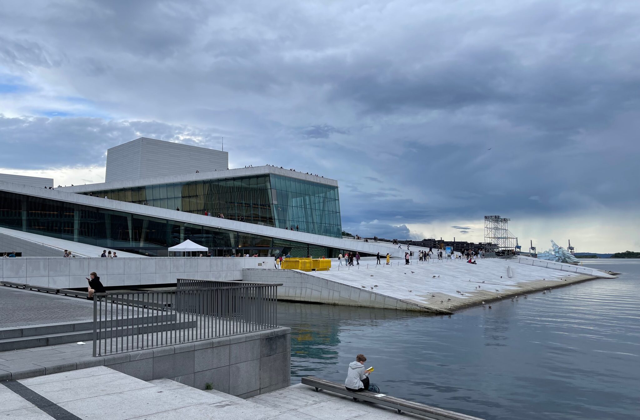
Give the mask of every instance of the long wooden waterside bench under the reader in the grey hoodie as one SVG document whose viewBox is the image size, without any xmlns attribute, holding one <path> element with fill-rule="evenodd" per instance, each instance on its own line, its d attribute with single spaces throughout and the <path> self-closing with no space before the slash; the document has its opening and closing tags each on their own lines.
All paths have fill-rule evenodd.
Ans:
<svg viewBox="0 0 640 420">
<path fill-rule="evenodd" d="M 355 400 L 384 405 L 385 407 L 394 408 L 399 414 L 406 411 L 408 413 L 418 414 L 419 416 L 424 416 L 433 420 L 483 420 L 479 417 L 467 416 L 467 414 L 443 410 L 442 408 L 402 400 L 401 398 L 394 398 L 385 394 L 376 394 L 369 391 L 360 391 L 355 393 L 353 391 L 348 391 L 344 387 L 344 384 L 338 384 L 337 382 L 331 382 L 316 377 L 303 377 L 302 383 L 314 387 L 316 392 L 326 390 L 332 393 L 353 397 Z"/>
</svg>

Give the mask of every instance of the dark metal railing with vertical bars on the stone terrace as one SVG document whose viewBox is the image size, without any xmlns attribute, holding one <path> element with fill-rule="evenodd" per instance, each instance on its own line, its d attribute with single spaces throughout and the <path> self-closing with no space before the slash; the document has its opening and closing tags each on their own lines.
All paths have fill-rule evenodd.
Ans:
<svg viewBox="0 0 640 420">
<path fill-rule="evenodd" d="M 95 293 L 93 356 L 275 329 L 278 286 Z"/>
</svg>

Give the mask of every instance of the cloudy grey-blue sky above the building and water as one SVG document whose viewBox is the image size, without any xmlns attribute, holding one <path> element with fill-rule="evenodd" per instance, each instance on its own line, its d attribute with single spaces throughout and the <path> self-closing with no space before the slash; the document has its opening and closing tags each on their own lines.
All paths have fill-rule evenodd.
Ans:
<svg viewBox="0 0 640 420">
<path fill-rule="evenodd" d="M 344 229 L 640 251 L 640 3 L 24 1 L 0 172 L 104 180 L 140 136 L 335 178 Z"/>
</svg>

